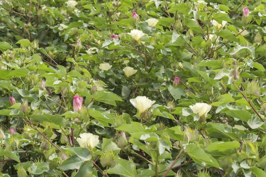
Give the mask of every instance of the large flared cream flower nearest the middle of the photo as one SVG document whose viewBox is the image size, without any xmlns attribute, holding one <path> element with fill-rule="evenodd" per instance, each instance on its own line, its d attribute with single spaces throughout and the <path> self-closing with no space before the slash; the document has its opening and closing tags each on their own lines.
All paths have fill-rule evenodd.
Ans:
<svg viewBox="0 0 266 177">
<path fill-rule="evenodd" d="M 145 96 L 138 96 L 135 99 L 130 99 L 130 103 L 139 111 L 139 113 L 142 113 L 149 109 L 155 101 L 151 101 Z"/>
</svg>

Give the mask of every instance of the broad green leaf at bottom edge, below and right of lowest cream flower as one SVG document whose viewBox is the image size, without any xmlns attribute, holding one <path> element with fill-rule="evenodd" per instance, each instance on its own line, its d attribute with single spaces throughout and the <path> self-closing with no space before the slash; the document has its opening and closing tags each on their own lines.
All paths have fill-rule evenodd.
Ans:
<svg viewBox="0 0 266 177">
<path fill-rule="evenodd" d="M 134 163 L 124 160 L 116 159 L 116 166 L 107 170 L 108 174 L 118 174 L 126 177 L 136 177 L 137 171 Z"/>
</svg>

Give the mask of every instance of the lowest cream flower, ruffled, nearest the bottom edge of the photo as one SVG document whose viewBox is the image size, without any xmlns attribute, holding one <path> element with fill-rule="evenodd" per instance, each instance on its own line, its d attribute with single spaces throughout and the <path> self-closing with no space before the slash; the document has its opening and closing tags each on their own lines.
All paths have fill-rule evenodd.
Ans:
<svg viewBox="0 0 266 177">
<path fill-rule="evenodd" d="M 80 135 L 80 138 L 77 138 L 77 142 L 83 148 L 94 148 L 99 143 L 99 136 L 84 133 Z"/>
</svg>

